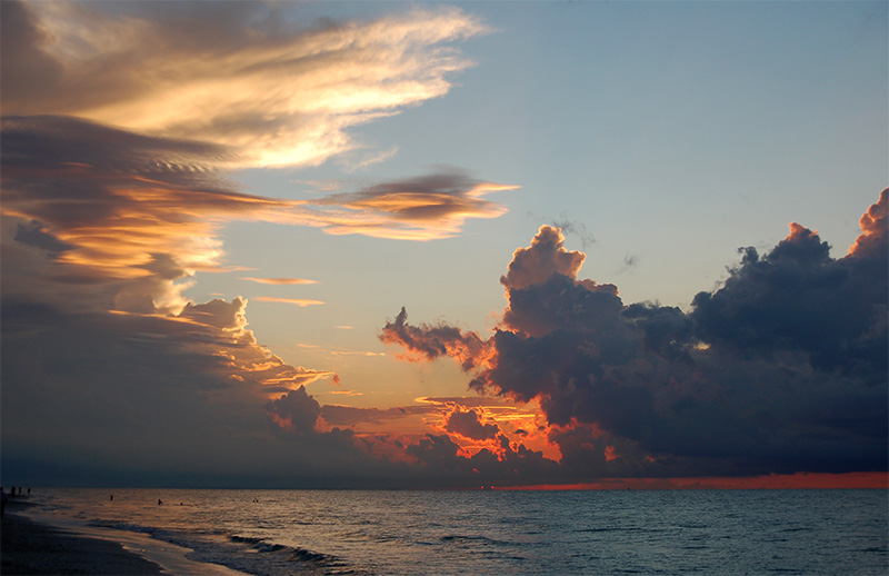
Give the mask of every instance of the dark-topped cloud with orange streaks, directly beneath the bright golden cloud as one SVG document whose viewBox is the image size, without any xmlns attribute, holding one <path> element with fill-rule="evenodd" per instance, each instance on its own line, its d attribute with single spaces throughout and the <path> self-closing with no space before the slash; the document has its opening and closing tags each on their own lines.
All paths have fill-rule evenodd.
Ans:
<svg viewBox="0 0 889 576">
<path fill-rule="evenodd" d="M 208 168 L 218 147 L 61 117 L 3 118 L 2 133 L 3 215 L 20 230 L 4 248 L 51 260 L 7 282 L 10 295 L 73 291 L 96 308 L 176 314 L 187 278 L 218 266 L 222 221 L 287 207 L 233 191 Z"/>
</svg>

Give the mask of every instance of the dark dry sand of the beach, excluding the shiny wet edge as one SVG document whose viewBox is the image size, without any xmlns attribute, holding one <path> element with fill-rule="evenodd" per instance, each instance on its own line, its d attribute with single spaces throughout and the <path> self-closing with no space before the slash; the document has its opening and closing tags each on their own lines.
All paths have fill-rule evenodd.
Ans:
<svg viewBox="0 0 889 576">
<path fill-rule="evenodd" d="M 127 552 L 121 544 L 69 534 L 34 523 L 10 501 L 0 532 L 0 573 L 18 574 L 164 574 L 161 567 Z"/>
</svg>

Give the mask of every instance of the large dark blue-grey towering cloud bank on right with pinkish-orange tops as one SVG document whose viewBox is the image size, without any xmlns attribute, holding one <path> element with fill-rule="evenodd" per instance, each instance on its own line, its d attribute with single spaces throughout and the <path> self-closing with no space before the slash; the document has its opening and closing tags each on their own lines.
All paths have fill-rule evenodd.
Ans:
<svg viewBox="0 0 889 576">
<path fill-rule="evenodd" d="M 545 226 L 501 278 L 483 361 L 456 328 L 404 312 L 383 339 L 426 359 L 456 349 L 471 388 L 539 400 L 562 478 L 886 470 L 886 196 L 847 256 L 792 224 L 689 314 L 579 280 L 583 255 Z"/>
</svg>

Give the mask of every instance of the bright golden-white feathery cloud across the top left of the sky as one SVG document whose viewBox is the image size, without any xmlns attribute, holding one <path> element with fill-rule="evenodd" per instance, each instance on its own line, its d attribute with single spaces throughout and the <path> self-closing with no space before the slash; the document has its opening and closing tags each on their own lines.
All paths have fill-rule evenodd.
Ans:
<svg viewBox="0 0 889 576">
<path fill-rule="evenodd" d="M 358 148 L 349 128 L 447 93 L 471 66 L 448 44 L 488 31 L 452 8 L 311 28 L 258 2 L 127 8 L 4 2 L 3 116 L 211 142 L 236 152 L 228 166 L 316 166 Z"/>
</svg>

